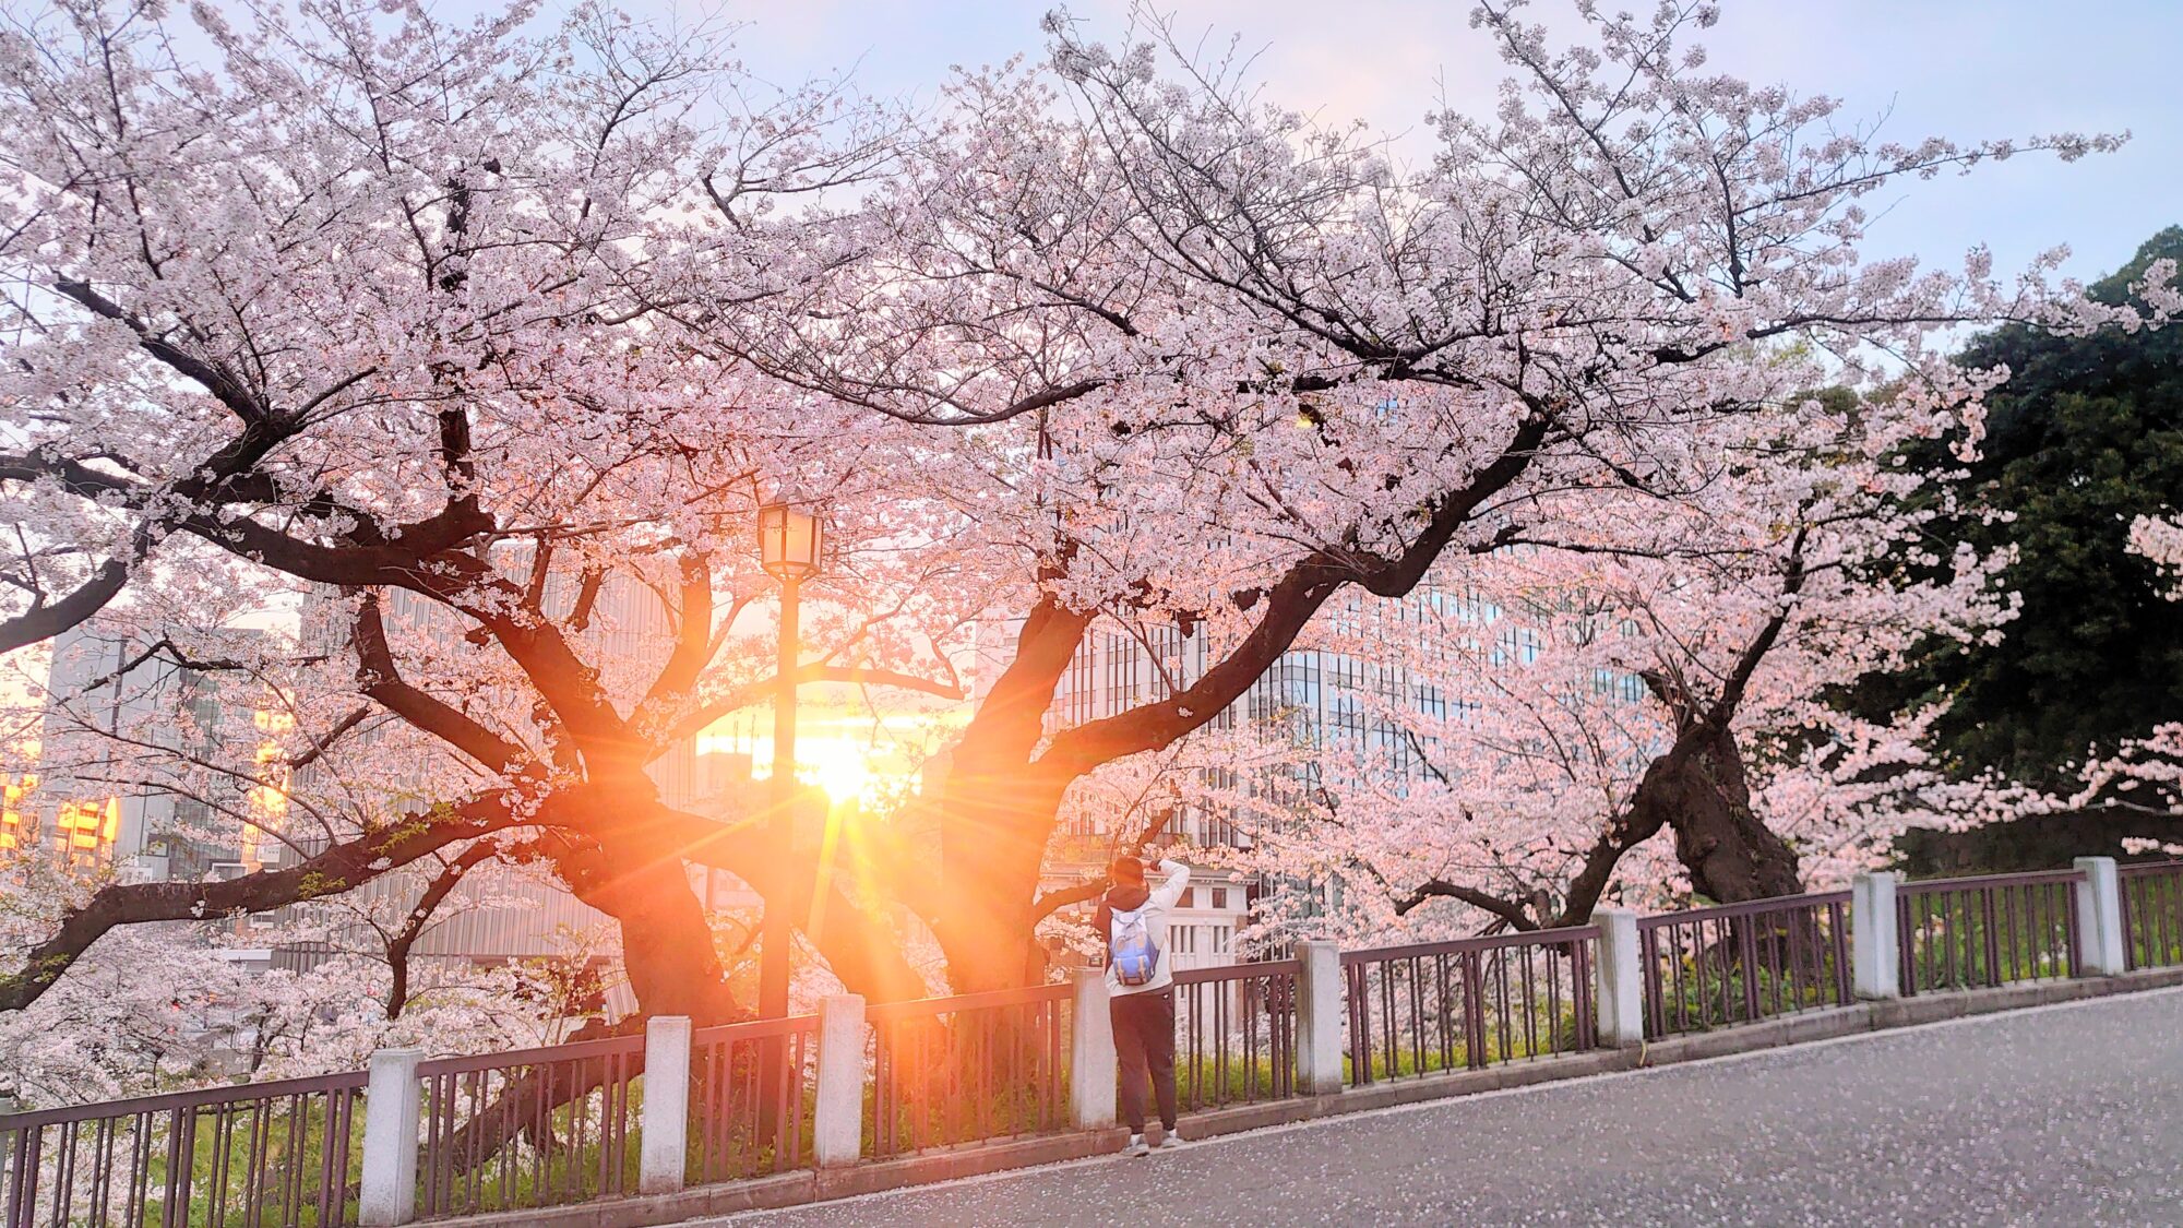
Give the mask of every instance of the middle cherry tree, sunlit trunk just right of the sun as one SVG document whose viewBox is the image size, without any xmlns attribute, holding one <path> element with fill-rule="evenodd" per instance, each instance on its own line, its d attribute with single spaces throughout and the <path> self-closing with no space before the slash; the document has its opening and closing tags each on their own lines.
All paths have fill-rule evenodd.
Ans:
<svg viewBox="0 0 2183 1228">
<path fill-rule="evenodd" d="M 974 509 L 961 551 L 1011 568 L 1013 658 L 941 806 L 958 988 L 1026 977 L 1070 789 L 1212 723 L 1329 603 L 1559 542 L 1570 492 L 1631 533 L 1587 548 L 1642 551 L 1646 509 L 1679 524 L 1733 489 L 1720 433 L 1801 439 L 1810 371 L 1781 352 L 1853 391 L 1914 387 L 1945 422 L 1978 393 L 1947 328 L 2120 315 L 2050 286 L 2052 260 L 2000 284 L 1978 251 L 1960 273 L 1860 258 L 1884 186 L 2111 140 L 1895 144 L 1832 98 L 1707 72 L 1690 35 L 1711 7 L 1583 17 L 1556 48 L 1482 4 L 1515 81 L 1493 116 L 1439 116 L 1434 160 L 1406 168 L 1264 103 L 1246 63 L 1179 52 L 1157 17 L 1107 46 L 1057 15 L 1048 70 L 954 87 L 950 140 L 875 205 L 886 260 L 692 319 L 696 347 L 952 428 L 917 489 Z M 1753 592 L 1801 572 L 1788 542 Z M 1740 623 L 1753 647 L 1766 616 Z M 1061 728 L 1057 682 L 1094 627 L 1192 647 L 1126 710 Z M 1722 736 L 1720 699 L 1672 699 L 1696 743 Z"/>
</svg>

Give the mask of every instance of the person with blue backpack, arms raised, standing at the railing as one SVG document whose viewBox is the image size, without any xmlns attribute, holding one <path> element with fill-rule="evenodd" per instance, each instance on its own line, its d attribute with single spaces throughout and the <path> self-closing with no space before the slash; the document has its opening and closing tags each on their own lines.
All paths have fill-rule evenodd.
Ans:
<svg viewBox="0 0 2183 1228">
<path fill-rule="evenodd" d="M 1168 909 L 1190 887 L 1190 867 L 1159 861 L 1166 881 L 1146 889 L 1144 861 L 1116 857 L 1107 867 L 1113 887 L 1092 918 L 1107 940 L 1107 1016 L 1122 1066 L 1122 1119 L 1129 1121 L 1124 1156 L 1148 1156 L 1144 1145 L 1144 1086 L 1159 1103 L 1159 1147 L 1179 1147 L 1174 1132 L 1174 972 L 1168 968 Z"/>
</svg>

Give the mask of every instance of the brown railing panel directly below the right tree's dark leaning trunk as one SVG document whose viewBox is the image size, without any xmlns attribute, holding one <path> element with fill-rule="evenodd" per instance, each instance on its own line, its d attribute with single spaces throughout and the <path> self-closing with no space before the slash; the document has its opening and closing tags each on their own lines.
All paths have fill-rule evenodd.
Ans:
<svg viewBox="0 0 2183 1228">
<path fill-rule="evenodd" d="M 1849 892 L 1637 918 L 1637 966 L 1648 1038 L 1847 1005 Z"/>
</svg>

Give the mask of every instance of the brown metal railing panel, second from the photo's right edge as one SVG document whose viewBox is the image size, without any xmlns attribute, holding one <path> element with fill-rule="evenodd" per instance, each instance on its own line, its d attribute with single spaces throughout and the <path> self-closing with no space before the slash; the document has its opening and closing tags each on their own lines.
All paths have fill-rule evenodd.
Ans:
<svg viewBox="0 0 2183 1228">
<path fill-rule="evenodd" d="M 1895 892 L 1904 996 L 2076 975 L 2083 870 L 1928 878 Z"/>
</svg>

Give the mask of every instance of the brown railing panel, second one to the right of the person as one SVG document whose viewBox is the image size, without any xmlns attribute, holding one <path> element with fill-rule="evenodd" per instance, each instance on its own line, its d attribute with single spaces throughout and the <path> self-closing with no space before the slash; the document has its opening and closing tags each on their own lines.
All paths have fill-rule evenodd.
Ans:
<svg viewBox="0 0 2183 1228">
<path fill-rule="evenodd" d="M 1598 926 L 1345 950 L 1349 1086 L 1598 1044 Z"/>
</svg>

